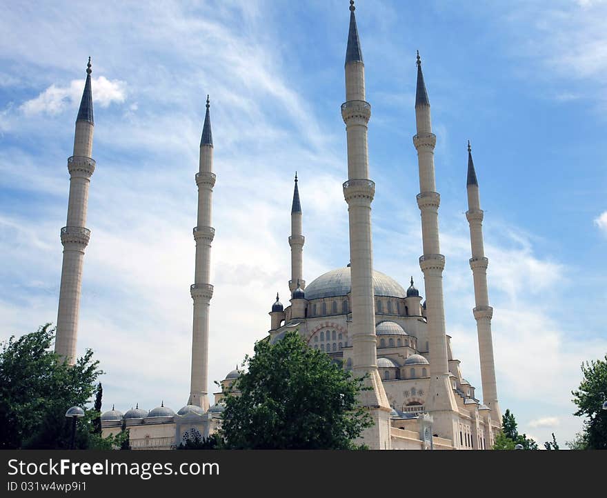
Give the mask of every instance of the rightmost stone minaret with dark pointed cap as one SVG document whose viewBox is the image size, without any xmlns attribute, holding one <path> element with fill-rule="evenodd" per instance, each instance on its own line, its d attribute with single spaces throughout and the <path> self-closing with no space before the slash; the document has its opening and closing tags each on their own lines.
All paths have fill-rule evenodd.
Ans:
<svg viewBox="0 0 607 498">
<path fill-rule="evenodd" d="M 492 419 L 501 421 L 501 412 L 497 404 L 497 385 L 495 384 L 495 363 L 493 361 L 493 341 L 491 337 L 491 318 L 493 308 L 489 306 L 487 287 L 487 266 L 483 243 L 483 210 L 479 196 L 479 182 L 472 162 L 472 148 L 468 141 L 468 211 L 466 218 L 470 224 L 470 246 L 472 257 L 470 268 L 475 287 L 475 308 L 472 310 L 477 321 L 479 335 L 479 358 L 481 361 L 481 383 L 483 385 L 483 402 L 492 412 Z"/>
</svg>

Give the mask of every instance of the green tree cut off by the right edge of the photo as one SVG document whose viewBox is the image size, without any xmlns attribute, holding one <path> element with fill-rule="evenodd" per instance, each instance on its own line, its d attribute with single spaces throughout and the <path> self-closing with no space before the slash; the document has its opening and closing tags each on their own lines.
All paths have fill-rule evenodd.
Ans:
<svg viewBox="0 0 607 498">
<path fill-rule="evenodd" d="M 606 450 L 607 410 L 602 406 L 607 400 L 607 355 L 604 359 L 582 363 L 581 372 L 584 377 L 577 390 L 571 392 L 572 401 L 577 406 L 573 415 L 586 419 L 581 437 L 576 437 L 571 443 L 579 449 Z"/>
</svg>

